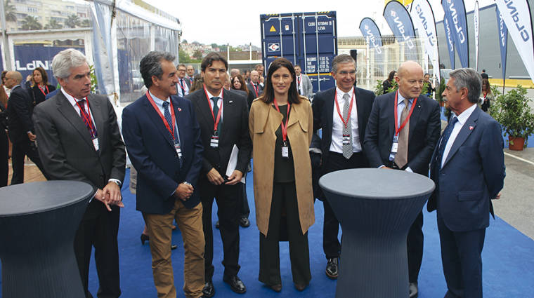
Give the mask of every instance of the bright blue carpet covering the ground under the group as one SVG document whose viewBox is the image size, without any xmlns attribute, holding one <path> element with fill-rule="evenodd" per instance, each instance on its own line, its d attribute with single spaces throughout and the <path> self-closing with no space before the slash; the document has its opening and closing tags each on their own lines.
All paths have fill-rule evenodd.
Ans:
<svg viewBox="0 0 534 298">
<path fill-rule="evenodd" d="M 150 266 L 150 248 L 148 243 L 141 245 L 139 240 L 141 231 L 143 231 L 143 218 L 141 213 L 135 210 L 135 196 L 128 190 L 128 177 L 129 171 L 126 172 L 122 191 L 125 208 L 122 210 L 119 228 L 122 297 L 156 297 Z M 258 281 L 259 231 L 256 228 L 254 216 L 252 173 L 249 173 L 247 177 L 247 194 L 252 210 L 249 218 L 252 225 L 246 229 L 240 228 L 240 264 L 242 267 L 239 273 L 240 278 L 247 285 L 247 293 L 235 294 L 226 283 L 223 283 L 221 237 L 217 233 L 218 230 L 214 229 L 215 297 L 334 297 L 336 281 L 328 279 L 324 273 L 326 260 L 323 255 L 323 204 L 316 202 L 315 224 L 308 233 L 312 274 L 310 286 L 304 292 L 294 289 L 289 265 L 289 248 L 285 242 L 280 244 L 282 292 L 275 293 Z M 498 210 L 496 211 L 498 213 Z M 215 214 L 216 207 L 214 208 Z M 215 217 L 213 222 L 216 222 Z M 446 286 L 441 267 L 436 212 L 424 212 L 424 236 L 424 258 L 419 274 L 419 297 L 443 297 Z M 178 229 L 173 233 L 173 242 L 178 244 L 178 249 L 172 252 L 174 279 L 178 297 L 184 297 L 181 290 L 183 287 L 183 246 Z M 486 246 L 482 257 L 484 297 L 534 297 L 534 241 L 532 239 L 496 217 L 496 220 L 491 220 L 490 227 L 487 229 Z M 89 289 L 96 297 L 98 278 L 93 259 L 91 259 Z M 355 291 L 357 292 L 357 289 Z"/>
</svg>

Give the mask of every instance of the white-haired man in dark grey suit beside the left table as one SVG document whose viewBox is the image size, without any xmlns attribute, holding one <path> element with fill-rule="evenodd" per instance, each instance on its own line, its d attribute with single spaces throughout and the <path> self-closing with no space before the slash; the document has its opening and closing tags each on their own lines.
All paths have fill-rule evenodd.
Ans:
<svg viewBox="0 0 534 298">
<path fill-rule="evenodd" d="M 97 297 L 119 297 L 119 207 L 126 152 L 108 97 L 90 94 L 91 71 L 85 56 L 72 48 L 52 61 L 61 85 L 58 94 L 34 110 L 39 155 L 51 180 L 89 183 L 96 194 L 74 238 L 86 297 L 92 246 L 98 271 Z"/>
</svg>

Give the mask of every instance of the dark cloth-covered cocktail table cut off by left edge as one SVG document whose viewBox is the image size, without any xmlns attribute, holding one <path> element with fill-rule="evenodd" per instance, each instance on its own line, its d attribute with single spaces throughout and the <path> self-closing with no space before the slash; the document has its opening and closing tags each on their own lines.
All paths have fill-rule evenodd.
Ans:
<svg viewBox="0 0 534 298">
<path fill-rule="evenodd" d="M 93 194 L 74 181 L 0 188 L 2 297 L 85 297 L 74 235 Z"/>
</svg>

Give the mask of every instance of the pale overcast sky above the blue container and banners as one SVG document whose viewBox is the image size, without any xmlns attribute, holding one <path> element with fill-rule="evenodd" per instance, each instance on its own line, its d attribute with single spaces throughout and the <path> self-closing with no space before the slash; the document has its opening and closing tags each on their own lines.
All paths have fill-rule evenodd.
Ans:
<svg viewBox="0 0 534 298">
<path fill-rule="evenodd" d="M 171 15 L 182 25 L 182 40 L 188 42 L 217 43 L 230 46 L 252 43 L 261 47 L 259 15 L 268 13 L 306 13 L 336 11 L 337 35 L 361 36 L 360 21 L 369 17 L 377 22 L 382 34 L 391 34 L 382 13 L 382 0 L 268 0 L 268 1 L 213 1 L 213 0 L 145 0 Z M 429 0 L 436 21 L 443 20 L 441 0 Z M 480 7 L 493 0 L 479 0 Z M 464 0 L 466 11 L 474 9 L 475 0 Z"/>
</svg>

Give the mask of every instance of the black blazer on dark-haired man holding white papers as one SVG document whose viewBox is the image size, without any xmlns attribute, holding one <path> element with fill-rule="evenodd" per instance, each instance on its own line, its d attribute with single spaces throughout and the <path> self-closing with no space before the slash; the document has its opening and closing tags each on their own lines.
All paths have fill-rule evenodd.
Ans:
<svg viewBox="0 0 534 298">
<path fill-rule="evenodd" d="M 202 131 L 204 158 L 201 175 L 205 175 L 211 168 L 215 168 L 224 177 L 234 144 L 239 149 L 235 169 L 245 174 L 252 151 L 248 124 L 249 112 L 245 97 L 223 89 L 223 115 L 218 149 L 210 147 L 215 122 L 213 116 L 211 116 L 211 107 L 206 98 L 206 93 L 204 93 L 203 89 L 196 90 L 185 98 L 193 102 L 200 130 Z"/>
</svg>

